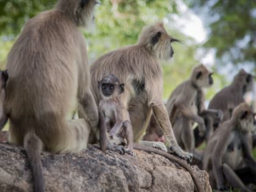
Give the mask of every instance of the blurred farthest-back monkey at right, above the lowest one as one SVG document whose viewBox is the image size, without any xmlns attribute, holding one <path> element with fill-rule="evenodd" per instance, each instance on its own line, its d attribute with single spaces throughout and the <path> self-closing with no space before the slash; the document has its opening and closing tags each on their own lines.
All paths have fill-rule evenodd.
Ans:
<svg viewBox="0 0 256 192">
<path fill-rule="evenodd" d="M 223 112 L 222 122 L 226 121 L 231 117 L 233 108 L 244 102 L 244 93 L 252 91 L 253 84 L 254 76 L 241 69 L 233 78 L 231 85 L 215 94 L 208 108 L 221 110 Z"/>
</svg>

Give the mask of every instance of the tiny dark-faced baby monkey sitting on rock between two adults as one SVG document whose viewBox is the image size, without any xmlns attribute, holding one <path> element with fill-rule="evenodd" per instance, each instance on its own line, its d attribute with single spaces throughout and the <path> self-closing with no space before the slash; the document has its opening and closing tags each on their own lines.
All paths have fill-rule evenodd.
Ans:
<svg viewBox="0 0 256 192">
<path fill-rule="evenodd" d="M 129 113 L 119 98 L 119 94 L 124 92 L 124 84 L 120 84 L 119 79 L 110 74 L 98 82 L 98 88 L 101 93 L 99 132 L 102 151 L 110 149 L 134 155 L 132 151 L 133 132 Z M 123 138 L 126 138 L 126 148 L 120 146 L 124 143 Z"/>
</svg>

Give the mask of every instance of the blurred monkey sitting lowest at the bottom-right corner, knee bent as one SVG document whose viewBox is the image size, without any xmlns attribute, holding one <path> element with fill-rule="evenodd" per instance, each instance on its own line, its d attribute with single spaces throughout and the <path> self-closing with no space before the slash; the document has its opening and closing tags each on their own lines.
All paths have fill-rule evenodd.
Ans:
<svg viewBox="0 0 256 192">
<path fill-rule="evenodd" d="M 230 186 L 250 191 L 245 184 L 256 183 L 256 161 L 251 152 L 252 126 L 252 110 L 241 103 L 208 140 L 203 169 L 208 172 L 213 188 L 225 190 Z"/>
</svg>

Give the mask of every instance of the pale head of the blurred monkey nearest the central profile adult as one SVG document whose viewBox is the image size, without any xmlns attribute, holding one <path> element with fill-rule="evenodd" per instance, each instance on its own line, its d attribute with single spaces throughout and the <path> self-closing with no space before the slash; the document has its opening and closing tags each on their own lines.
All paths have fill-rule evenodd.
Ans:
<svg viewBox="0 0 256 192">
<path fill-rule="evenodd" d="M 190 79 L 195 87 L 210 87 L 213 85 L 212 74 L 204 65 L 200 64 L 193 69 Z"/>
</svg>

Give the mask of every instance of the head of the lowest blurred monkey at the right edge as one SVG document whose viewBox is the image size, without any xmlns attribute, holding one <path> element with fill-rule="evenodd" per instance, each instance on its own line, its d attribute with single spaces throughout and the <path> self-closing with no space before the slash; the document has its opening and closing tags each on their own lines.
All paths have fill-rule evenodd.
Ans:
<svg viewBox="0 0 256 192">
<path fill-rule="evenodd" d="M 252 108 L 245 102 L 235 107 L 231 119 L 238 122 L 238 127 L 243 131 L 252 130 L 254 127 L 254 113 Z"/>
</svg>

